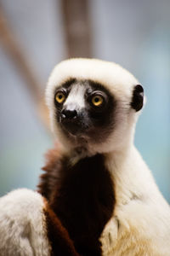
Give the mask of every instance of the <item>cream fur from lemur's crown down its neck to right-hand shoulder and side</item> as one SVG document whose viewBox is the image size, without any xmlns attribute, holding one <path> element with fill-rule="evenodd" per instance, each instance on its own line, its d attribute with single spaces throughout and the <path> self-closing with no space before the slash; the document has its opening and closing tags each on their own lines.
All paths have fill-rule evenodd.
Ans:
<svg viewBox="0 0 170 256">
<path fill-rule="evenodd" d="M 116 207 L 100 238 L 104 256 L 169 256 L 170 207 L 163 199 L 139 152 L 133 136 L 139 112 L 130 107 L 138 80 L 115 63 L 72 59 L 54 67 L 46 100 L 54 133 L 65 151 L 69 143 L 54 119 L 54 91 L 66 80 L 92 79 L 116 98 L 116 125 L 104 143 L 88 142 L 89 154 L 105 154 L 105 165 L 115 183 Z"/>
</svg>

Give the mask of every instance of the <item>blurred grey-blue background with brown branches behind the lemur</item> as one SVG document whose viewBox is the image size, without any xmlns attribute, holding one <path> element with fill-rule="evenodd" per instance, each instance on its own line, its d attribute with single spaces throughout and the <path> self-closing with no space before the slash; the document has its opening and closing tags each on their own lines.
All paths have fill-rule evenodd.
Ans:
<svg viewBox="0 0 170 256">
<path fill-rule="evenodd" d="M 44 88 L 68 57 L 115 61 L 144 86 L 135 144 L 170 202 L 170 1 L 0 1 L 0 195 L 36 189 L 53 147 Z"/>
</svg>

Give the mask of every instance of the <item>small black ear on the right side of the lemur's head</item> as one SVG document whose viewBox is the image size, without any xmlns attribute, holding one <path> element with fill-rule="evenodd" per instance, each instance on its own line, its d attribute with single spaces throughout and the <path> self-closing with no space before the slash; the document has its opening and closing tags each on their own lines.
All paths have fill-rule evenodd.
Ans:
<svg viewBox="0 0 170 256">
<path fill-rule="evenodd" d="M 140 84 L 134 86 L 133 98 L 131 102 L 131 107 L 136 111 L 139 111 L 143 107 L 144 102 L 144 89 Z"/>
</svg>

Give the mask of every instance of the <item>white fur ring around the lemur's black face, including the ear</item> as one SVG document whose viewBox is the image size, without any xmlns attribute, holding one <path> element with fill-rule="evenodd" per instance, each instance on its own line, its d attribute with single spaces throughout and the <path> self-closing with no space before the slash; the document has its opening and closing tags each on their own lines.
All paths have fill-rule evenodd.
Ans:
<svg viewBox="0 0 170 256">
<path fill-rule="evenodd" d="M 143 89 L 137 79 L 133 77 L 126 69 L 109 61 L 100 61 L 96 59 L 70 59 L 60 62 L 54 67 L 48 79 L 46 89 L 46 102 L 50 110 L 50 119 L 54 133 L 56 133 L 60 143 L 64 148 L 81 147 L 81 143 L 77 143 L 77 138 L 67 137 L 62 131 L 59 122 L 56 121 L 56 106 L 54 104 L 54 96 L 56 90 L 73 79 L 78 83 L 80 81 L 91 81 L 92 83 L 101 84 L 108 94 L 114 97 L 116 102 L 114 110 L 114 127 L 110 135 L 105 137 L 105 141 L 90 140 L 84 137 L 88 150 L 93 153 L 105 153 L 114 149 L 120 149 L 129 137 L 133 136 L 133 130 L 136 123 L 139 110 L 143 105 Z M 74 96 L 73 96 L 74 97 Z M 66 101 L 65 101 L 66 102 Z M 106 113 L 107 114 L 107 113 Z M 107 129 L 101 132 L 106 133 Z M 82 136 L 83 137 L 83 136 Z M 101 134 L 100 137 L 103 137 Z"/>
</svg>

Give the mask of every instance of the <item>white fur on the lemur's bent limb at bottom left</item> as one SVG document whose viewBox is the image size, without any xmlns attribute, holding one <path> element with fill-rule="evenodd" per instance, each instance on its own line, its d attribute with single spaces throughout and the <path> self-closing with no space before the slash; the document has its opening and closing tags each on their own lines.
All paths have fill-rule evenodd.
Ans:
<svg viewBox="0 0 170 256">
<path fill-rule="evenodd" d="M 0 198 L 0 255 L 48 256 L 44 202 L 29 189 L 17 189 Z"/>
</svg>

